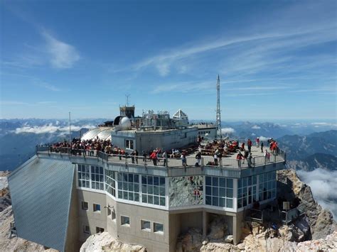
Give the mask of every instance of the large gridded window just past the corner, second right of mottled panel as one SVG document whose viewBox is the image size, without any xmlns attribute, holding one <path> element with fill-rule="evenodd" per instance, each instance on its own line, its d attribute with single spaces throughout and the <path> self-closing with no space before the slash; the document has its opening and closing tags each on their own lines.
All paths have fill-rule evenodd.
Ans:
<svg viewBox="0 0 337 252">
<path fill-rule="evenodd" d="M 257 177 L 243 177 L 237 180 L 237 208 L 245 207 L 257 200 Z"/>
</svg>

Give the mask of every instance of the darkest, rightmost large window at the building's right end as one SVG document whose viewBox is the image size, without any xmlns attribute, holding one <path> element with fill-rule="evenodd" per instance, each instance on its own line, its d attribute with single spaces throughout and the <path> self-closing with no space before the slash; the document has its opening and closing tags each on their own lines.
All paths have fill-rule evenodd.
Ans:
<svg viewBox="0 0 337 252">
<path fill-rule="evenodd" d="M 266 172 L 259 175 L 259 200 L 276 197 L 276 172 Z"/>
</svg>

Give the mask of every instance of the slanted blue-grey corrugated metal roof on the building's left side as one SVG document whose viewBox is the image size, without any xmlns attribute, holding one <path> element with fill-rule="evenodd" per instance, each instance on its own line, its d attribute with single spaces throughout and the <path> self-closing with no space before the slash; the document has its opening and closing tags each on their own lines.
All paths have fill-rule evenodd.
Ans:
<svg viewBox="0 0 337 252">
<path fill-rule="evenodd" d="M 34 158 L 9 176 L 18 237 L 64 251 L 74 165 Z"/>
</svg>

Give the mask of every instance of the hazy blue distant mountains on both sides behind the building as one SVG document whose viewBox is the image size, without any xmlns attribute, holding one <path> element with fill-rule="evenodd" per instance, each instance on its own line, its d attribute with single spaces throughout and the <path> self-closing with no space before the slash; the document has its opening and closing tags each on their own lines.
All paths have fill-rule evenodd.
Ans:
<svg viewBox="0 0 337 252">
<path fill-rule="evenodd" d="M 80 136 L 88 129 L 108 119 L 81 119 L 72 121 L 72 137 Z M 0 119 L 0 170 L 13 170 L 35 153 L 35 146 L 68 139 L 68 120 L 56 119 Z M 310 130 L 309 130 L 310 128 Z M 223 131 L 234 138 L 277 138 L 279 146 L 287 151 L 289 161 L 297 161 L 296 168 L 312 170 L 316 167 L 336 168 L 336 128 L 326 123 L 273 124 L 250 121 L 223 123 Z M 294 131 L 310 131 L 307 136 L 294 135 Z M 323 155 L 326 154 L 326 155 Z M 313 155 L 312 157 L 310 157 Z M 329 156 L 332 155 L 332 156 Z M 290 164 L 290 162 L 289 162 Z M 294 163 L 293 163 L 294 165 Z"/>
</svg>

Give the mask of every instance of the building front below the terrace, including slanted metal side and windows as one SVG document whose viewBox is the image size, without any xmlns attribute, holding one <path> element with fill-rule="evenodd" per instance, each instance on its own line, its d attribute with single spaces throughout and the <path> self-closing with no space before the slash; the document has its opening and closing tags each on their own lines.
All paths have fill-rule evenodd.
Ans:
<svg viewBox="0 0 337 252">
<path fill-rule="evenodd" d="M 253 168 L 184 168 L 41 148 L 9 176 L 17 234 L 74 251 L 91 234 L 108 231 L 149 251 L 175 251 L 179 234 L 196 227 L 207 235 L 210 221 L 223 216 L 238 243 L 244 210 L 276 197 L 284 158 Z"/>
</svg>

